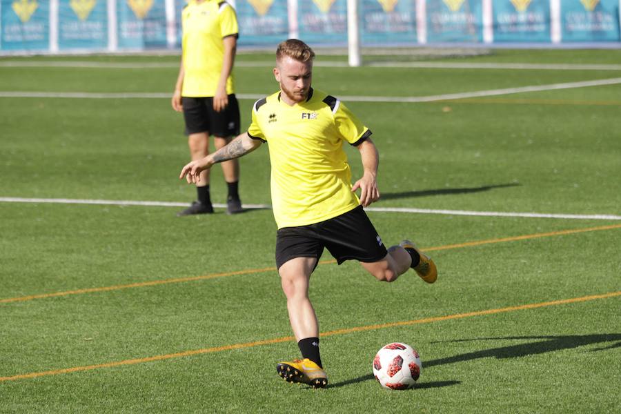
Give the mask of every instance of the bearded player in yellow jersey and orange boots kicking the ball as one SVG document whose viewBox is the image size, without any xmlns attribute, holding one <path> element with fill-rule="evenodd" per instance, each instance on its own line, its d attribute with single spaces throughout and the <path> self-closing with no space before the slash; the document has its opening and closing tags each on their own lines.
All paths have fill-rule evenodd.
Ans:
<svg viewBox="0 0 621 414">
<path fill-rule="evenodd" d="M 339 264 L 356 259 L 385 282 L 413 268 L 425 282 L 433 283 L 437 269 L 408 240 L 386 249 L 364 213 L 363 207 L 380 198 L 377 149 L 371 131 L 339 99 L 311 88 L 313 57 L 313 50 L 302 41 L 280 43 L 274 68 L 279 92 L 255 102 L 247 132 L 184 166 L 179 178 L 196 182 L 213 164 L 246 155 L 267 142 L 278 226 L 276 264 L 303 358 L 279 362 L 276 369 L 289 382 L 322 388 L 328 377 L 319 357 L 319 325 L 308 284 L 324 248 Z M 344 143 L 358 148 L 364 167 L 353 186 Z"/>
</svg>

